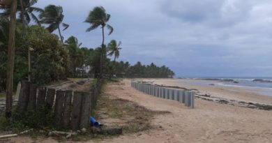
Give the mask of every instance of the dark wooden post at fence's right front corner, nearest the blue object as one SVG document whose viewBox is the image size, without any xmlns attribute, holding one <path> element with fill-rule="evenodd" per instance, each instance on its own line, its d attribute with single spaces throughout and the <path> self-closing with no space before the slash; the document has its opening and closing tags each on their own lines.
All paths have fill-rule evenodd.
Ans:
<svg viewBox="0 0 272 143">
<path fill-rule="evenodd" d="M 82 94 L 82 109 L 81 109 L 81 116 L 80 116 L 80 129 L 87 128 L 89 125 L 89 116 L 91 114 L 91 93 L 84 92 Z"/>
</svg>

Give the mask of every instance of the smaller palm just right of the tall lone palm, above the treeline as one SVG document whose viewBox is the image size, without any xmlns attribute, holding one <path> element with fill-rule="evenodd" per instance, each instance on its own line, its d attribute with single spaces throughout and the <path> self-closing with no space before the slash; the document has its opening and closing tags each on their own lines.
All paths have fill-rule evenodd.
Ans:
<svg viewBox="0 0 272 143">
<path fill-rule="evenodd" d="M 110 43 L 107 45 L 107 51 L 109 52 L 109 54 L 107 54 L 108 56 L 113 56 L 114 55 L 114 68 L 115 67 L 115 61 L 116 58 L 119 58 L 119 54 L 120 54 L 120 50 L 122 49 L 120 47 L 121 45 L 121 41 L 119 41 L 119 43 L 116 43 L 116 40 L 111 40 Z M 110 73 L 110 78 L 112 77 L 112 70 Z"/>
</svg>

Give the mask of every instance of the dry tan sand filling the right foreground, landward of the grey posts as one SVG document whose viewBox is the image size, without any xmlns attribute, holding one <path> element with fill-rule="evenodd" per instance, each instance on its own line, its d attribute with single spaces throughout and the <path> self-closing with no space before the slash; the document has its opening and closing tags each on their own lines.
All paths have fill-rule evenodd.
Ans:
<svg viewBox="0 0 272 143">
<path fill-rule="evenodd" d="M 153 81 L 163 84 L 167 82 L 165 80 Z M 172 84 L 172 81 L 168 81 L 167 84 Z M 216 90 L 220 91 L 220 89 Z M 188 109 L 174 100 L 156 98 L 137 91 L 130 87 L 130 80 L 107 85 L 105 92 L 114 97 L 131 100 L 150 110 L 169 111 L 171 113 L 155 116 L 152 119 L 154 128 L 151 130 L 121 135 L 102 142 L 272 142 L 271 111 L 224 105 L 201 99 L 195 100 L 195 109 Z M 229 93 L 229 95 L 232 95 L 232 93 Z M 223 96 L 227 95 L 224 94 Z M 239 97 L 232 95 L 231 98 Z M 254 100 L 251 96 L 242 99 Z M 267 99 L 271 100 L 270 98 Z M 265 98 L 257 99 L 257 101 L 268 102 Z M 24 140 L 33 142 L 29 137 L 15 137 L 11 141 L 22 142 Z M 36 142 L 56 141 L 36 139 Z"/>
</svg>

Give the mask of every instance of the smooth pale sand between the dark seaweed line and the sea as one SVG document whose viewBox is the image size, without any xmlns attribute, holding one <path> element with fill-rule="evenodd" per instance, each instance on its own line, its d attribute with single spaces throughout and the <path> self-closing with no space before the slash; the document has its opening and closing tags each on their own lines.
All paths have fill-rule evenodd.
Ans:
<svg viewBox="0 0 272 143">
<path fill-rule="evenodd" d="M 264 96 L 261 93 L 254 92 L 250 89 L 243 89 L 236 86 L 213 86 L 213 85 L 192 85 L 183 82 L 190 80 L 181 79 L 149 79 L 143 80 L 152 82 L 153 84 L 163 86 L 179 86 L 194 91 L 199 96 L 206 96 L 210 99 L 223 99 L 229 102 L 243 103 L 259 103 L 272 105 L 272 97 Z"/>
</svg>

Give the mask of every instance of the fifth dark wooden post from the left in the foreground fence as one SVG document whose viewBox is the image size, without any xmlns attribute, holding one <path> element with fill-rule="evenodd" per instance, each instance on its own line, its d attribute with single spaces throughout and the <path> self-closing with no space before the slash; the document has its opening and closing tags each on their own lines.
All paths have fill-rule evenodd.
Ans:
<svg viewBox="0 0 272 143">
<path fill-rule="evenodd" d="M 62 126 L 63 117 L 63 102 L 64 102 L 65 91 L 56 91 L 56 102 L 54 111 L 54 123 L 57 127 Z"/>
</svg>

